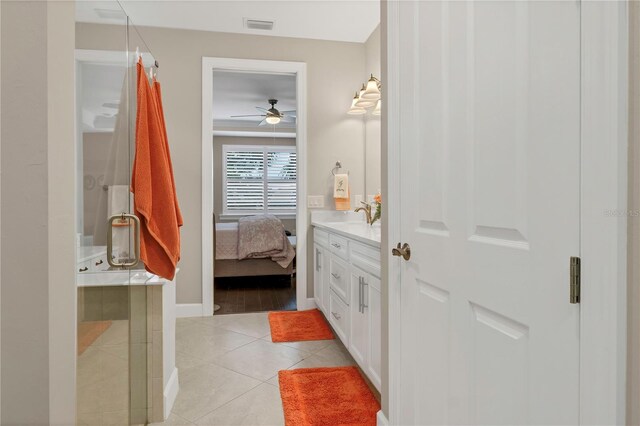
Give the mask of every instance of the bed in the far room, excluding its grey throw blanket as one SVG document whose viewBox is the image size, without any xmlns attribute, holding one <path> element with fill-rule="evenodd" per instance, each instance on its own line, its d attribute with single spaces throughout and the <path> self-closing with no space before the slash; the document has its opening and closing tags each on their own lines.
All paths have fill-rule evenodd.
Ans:
<svg viewBox="0 0 640 426">
<path fill-rule="evenodd" d="M 269 259 L 243 259 L 237 257 L 238 224 L 216 223 L 213 215 L 213 262 L 214 277 L 253 277 L 262 275 L 292 275 L 294 261 L 286 268 Z M 295 237 L 288 237 L 295 249 Z"/>
</svg>

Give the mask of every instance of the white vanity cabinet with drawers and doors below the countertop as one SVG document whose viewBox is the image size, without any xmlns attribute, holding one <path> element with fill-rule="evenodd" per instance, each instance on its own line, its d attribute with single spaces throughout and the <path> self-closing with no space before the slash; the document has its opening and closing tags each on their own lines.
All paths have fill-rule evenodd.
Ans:
<svg viewBox="0 0 640 426">
<path fill-rule="evenodd" d="M 357 235 L 350 237 L 349 233 L 333 230 L 329 225 L 316 225 L 314 262 L 314 298 L 318 308 L 369 380 L 380 390 L 379 242 L 357 238 Z"/>
</svg>

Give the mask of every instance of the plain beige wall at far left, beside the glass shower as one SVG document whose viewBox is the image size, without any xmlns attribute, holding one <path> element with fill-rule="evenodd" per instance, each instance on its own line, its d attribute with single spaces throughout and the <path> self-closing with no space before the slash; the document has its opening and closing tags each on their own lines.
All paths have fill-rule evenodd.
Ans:
<svg viewBox="0 0 640 426">
<path fill-rule="evenodd" d="M 0 8 L 0 422 L 73 424 L 74 4 Z"/>
</svg>

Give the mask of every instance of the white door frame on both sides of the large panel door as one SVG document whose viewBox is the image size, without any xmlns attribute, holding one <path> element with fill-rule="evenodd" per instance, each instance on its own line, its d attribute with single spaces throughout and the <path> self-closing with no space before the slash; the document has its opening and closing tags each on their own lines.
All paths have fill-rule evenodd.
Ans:
<svg viewBox="0 0 640 426">
<path fill-rule="evenodd" d="M 382 247 L 400 241 L 399 2 L 387 1 L 386 203 Z M 624 424 L 626 407 L 626 232 L 628 5 L 581 3 L 580 424 Z M 385 43 L 386 42 L 386 43 Z M 383 124 L 384 125 L 384 124 Z M 383 127 L 384 131 L 384 127 Z M 383 148 L 384 149 L 384 148 Z M 613 213 L 610 213 L 613 212 Z M 384 235 L 386 234 L 386 235 Z M 398 424 L 400 261 L 388 265 L 388 418 Z M 568 266 L 568 260 L 567 260 Z M 567 303 L 568 291 L 567 268 Z M 385 327 L 383 327 L 383 330 Z M 383 338 L 384 341 L 384 338 Z"/>
</svg>

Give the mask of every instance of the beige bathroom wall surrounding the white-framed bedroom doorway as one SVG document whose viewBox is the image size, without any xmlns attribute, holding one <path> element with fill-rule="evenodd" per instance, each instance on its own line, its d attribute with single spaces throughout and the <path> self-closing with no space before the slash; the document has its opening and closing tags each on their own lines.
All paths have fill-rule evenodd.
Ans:
<svg viewBox="0 0 640 426">
<path fill-rule="evenodd" d="M 139 28 L 160 63 L 164 110 L 178 198 L 185 219 L 177 302 L 202 302 L 201 102 L 202 57 L 307 63 L 307 193 L 323 195 L 333 208 L 331 168 L 336 160 L 351 172 L 354 195 L 364 195 L 364 126 L 347 115 L 353 91 L 366 78 L 362 43 L 251 36 L 178 29 Z M 78 24 L 78 48 L 120 50 L 121 28 Z M 111 40 L 115 40 L 111 42 Z M 309 247 L 308 258 L 312 258 Z M 308 288 L 312 288 L 313 268 Z M 309 293 L 311 294 L 311 293 Z"/>
</svg>

